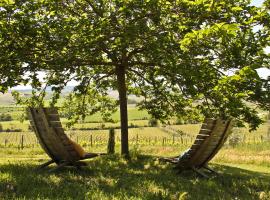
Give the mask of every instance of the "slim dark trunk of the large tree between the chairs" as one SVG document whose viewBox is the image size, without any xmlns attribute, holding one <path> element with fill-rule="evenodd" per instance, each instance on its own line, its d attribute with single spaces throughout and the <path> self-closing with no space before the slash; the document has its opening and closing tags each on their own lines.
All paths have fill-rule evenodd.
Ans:
<svg viewBox="0 0 270 200">
<path fill-rule="evenodd" d="M 124 66 L 117 68 L 118 93 L 120 101 L 120 119 L 121 119 L 121 154 L 128 158 L 128 113 L 127 113 L 127 87 L 126 87 L 126 69 Z"/>
</svg>

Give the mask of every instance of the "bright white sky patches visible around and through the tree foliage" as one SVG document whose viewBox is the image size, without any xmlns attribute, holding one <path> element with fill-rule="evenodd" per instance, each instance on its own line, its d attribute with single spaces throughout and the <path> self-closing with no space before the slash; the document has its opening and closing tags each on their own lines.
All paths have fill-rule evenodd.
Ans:
<svg viewBox="0 0 270 200">
<path fill-rule="evenodd" d="M 264 2 L 264 0 L 252 0 L 251 1 L 251 5 L 254 6 L 261 6 L 262 3 Z M 270 53 L 270 47 L 265 49 L 266 52 Z M 258 74 L 260 77 L 266 79 L 268 76 L 270 76 L 270 69 L 267 68 L 261 68 L 257 70 Z M 42 74 L 40 75 L 41 77 L 43 76 Z M 69 86 L 74 86 L 76 85 L 76 81 L 71 81 L 68 83 Z M 21 90 L 21 89 L 31 89 L 30 86 L 17 86 L 12 88 L 13 90 Z"/>
</svg>

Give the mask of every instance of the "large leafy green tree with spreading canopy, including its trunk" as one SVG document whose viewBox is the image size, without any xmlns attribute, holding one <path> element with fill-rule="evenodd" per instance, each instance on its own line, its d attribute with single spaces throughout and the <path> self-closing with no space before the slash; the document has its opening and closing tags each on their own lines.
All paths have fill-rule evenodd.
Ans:
<svg viewBox="0 0 270 200">
<path fill-rule="evenodd" d="M 76 80 L 69 100 L 77 115 L 102 111 L 107 118 L 120 105 L 122 154 L 128 155 L 131 93 L 144 97 L 139 107 L 159 119 L 195 112 L 256 128 L 262 121 L 247 102 L 269 109 L 269 82 L 256 73 L 269 68 L 267 4 L 7 0 L 0 16 L 0 89 L 31 83 L 35 94 L 43 72 L 55 103 Z M 118 91 L 119 101 L 108 98 L 109 90 Z"/>
</svg>

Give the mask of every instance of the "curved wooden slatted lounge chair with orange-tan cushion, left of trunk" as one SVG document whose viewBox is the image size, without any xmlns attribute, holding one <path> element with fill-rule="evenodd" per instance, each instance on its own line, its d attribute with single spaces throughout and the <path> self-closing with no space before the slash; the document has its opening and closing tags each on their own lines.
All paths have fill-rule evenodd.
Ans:
<svg viewBox="0 0 270 200">
<path fill-rule="evenodd" d="M 54 170 L 64 166 L 80 168 L 81 165 L 85 165 L 80 162 L 81 160 L 103 155 L 85 153 L 79 144 L 70 140 L 64 132 L 56 108 L 29 108 L 28 113 L 41 147 L 51 157 L 50 161 L 39 168 L 44 168 L 52 163 L 58 165 Z"/>
</svg>

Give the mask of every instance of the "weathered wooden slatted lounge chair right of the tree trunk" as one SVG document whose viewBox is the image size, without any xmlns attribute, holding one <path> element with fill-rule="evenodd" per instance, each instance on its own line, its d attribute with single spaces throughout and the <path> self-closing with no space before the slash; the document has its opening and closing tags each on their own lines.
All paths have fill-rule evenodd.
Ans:
<svg viewBox="0 0 270 200">
<path fill-rule="evenodd" d="M 232 120 L 205 119 L 190 149 L 180 156 L 161 160 L 174 163 L 175 169 L 179 172 L 192 169 L 201 176 L 207 177 L 200 169 L 215 172 L 207 164 L 226 142 L 232 127 Z"/>
</svg>

